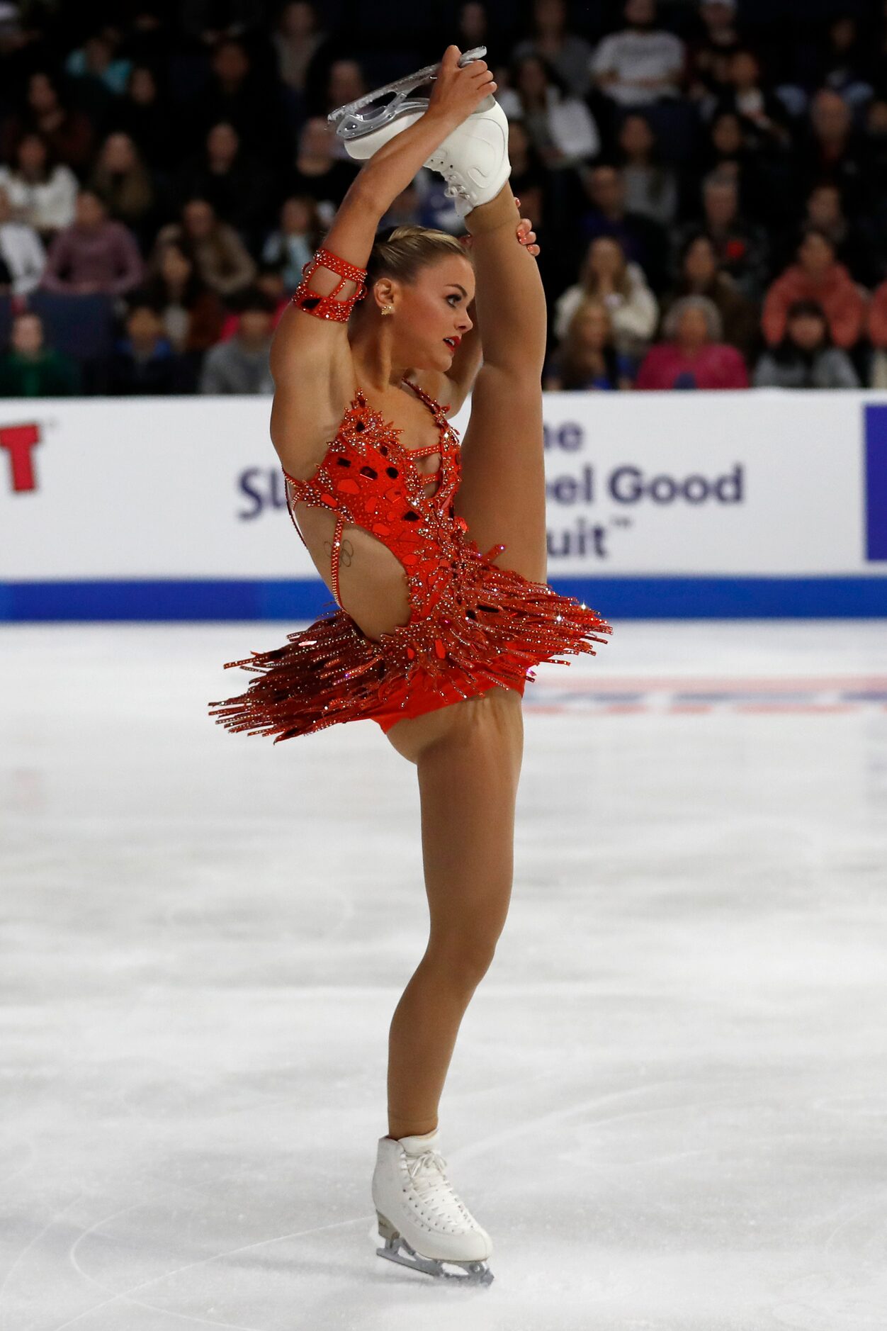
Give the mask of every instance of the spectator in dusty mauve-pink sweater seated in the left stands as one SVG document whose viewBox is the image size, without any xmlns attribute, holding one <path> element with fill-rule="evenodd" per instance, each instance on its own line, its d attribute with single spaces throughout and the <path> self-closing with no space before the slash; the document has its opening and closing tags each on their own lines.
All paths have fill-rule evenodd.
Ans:
<svg viewBox="0 0 887 1331">
<path fill-rule="evenodd" d="M 142 280 L 142 260 L 132 233 L 112 222 L 102 201 L 90 190 L 77 194 L 70 226 L 59 232 L 49 246 L 43 278 L 48 291 L 86 295 L 101 291 L 122 295 Z"/>
</svg>

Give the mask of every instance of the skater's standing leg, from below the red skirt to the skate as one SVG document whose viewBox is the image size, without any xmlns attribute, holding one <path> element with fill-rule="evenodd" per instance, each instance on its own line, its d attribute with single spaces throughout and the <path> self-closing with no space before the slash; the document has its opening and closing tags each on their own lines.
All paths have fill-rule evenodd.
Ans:
<svg viewBox="0 0 887 1331">
<path fill-rule="evenodd" d="M 459 1025 L 492 961 L 511 900 L 520 695 L 496 688 L 445 711 L 452 724 L 418 755 L 431 933 L 391 1022 L 394 1138 L 438 1125 Z"/>
</svg>

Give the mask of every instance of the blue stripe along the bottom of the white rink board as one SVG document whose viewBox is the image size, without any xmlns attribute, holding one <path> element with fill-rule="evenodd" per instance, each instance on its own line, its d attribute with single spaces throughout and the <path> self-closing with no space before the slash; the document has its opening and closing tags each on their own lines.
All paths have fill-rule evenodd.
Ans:
<svg viewBox="0 0 887 1331">
<path fill-rule="evenodd" d="M 880 619 L 887 578 L 553 578 L 605 619 Z M 0 583 L 0 620 L 314 619 L 335 603 L 315 579 Z"/>
</svg>

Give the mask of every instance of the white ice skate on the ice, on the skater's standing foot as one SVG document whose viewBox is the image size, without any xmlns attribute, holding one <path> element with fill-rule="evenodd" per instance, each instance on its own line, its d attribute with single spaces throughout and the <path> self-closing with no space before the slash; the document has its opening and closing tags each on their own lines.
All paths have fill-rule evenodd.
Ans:
<svg viewBox="0 0 887 1331">
<path fill-rule="evenodd" d="M 426 1275 L 489 1284 L 492 1239 L 453 1191 L 438 1142 L 439 1129 L 396 1142 L 379 1138 L 372 1201 L 386 1242 L 376 1252 Z"/>
</svg>

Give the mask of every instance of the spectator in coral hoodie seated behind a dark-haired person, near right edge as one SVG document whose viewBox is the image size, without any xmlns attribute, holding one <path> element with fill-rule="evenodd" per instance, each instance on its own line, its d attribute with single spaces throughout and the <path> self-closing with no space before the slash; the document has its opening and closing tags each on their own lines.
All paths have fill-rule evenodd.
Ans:
<svg viewBox="0 0 887 1331">
<path fill-rule="evenodd" d="M 866 297 L 843 264 L 835 260 L 834 241 L 815 226 L 806 229 L 798 262 L 777 278 L 763 305 L 763 335 L 778 346 L 786 335 L 789 310 L 797 301 L 815 301 L 828 321 L 835 346 L 855 346 L 866 322 Z"/>
</svg>

